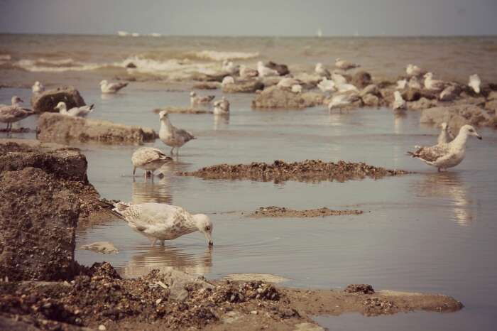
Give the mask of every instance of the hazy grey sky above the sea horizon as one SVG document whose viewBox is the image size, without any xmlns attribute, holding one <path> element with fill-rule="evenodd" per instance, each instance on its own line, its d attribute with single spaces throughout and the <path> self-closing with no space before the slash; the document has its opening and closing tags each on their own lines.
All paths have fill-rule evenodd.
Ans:
<svg viewBox="0 0 497 331">
<path fill-rule="evenodd" d="M 497 0 L 0 0 L 0 32 L 497 35 Z"/>
</svg>

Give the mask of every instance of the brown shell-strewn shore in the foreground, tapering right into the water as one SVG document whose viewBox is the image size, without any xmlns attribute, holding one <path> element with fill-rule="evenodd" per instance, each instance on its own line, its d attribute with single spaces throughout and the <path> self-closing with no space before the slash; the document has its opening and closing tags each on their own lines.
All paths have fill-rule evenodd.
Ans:
<svg viewBox="0 0 497 331">
<path fill-rule="evenodd" d="M 177 271 L 173 278 L 192 276 Z M 173 298 L 171 276 L 152 271 L 122 279 L 109 264 L 94 264 L 70 282 L 0 282 L 0 313 L 43 330 L 293 330 L 311 316 L 358 312 L 383 315 L 409 310 L 455 311 L 444 295 L 347 293 L 276 288 L 264 281 L 185 281 Z M 266 327 L 264 327 L 266 325 Z M 103 327 L 100 327 L 103 330 Z"/>
</svg>

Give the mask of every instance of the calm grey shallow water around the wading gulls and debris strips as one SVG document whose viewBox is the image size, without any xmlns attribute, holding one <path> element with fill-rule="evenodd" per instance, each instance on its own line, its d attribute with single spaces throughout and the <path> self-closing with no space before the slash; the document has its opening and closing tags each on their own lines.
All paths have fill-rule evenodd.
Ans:
<svg viewBox="0 0 497 331">
<path fill-rule="evenodd" d="M 30 92 L 0 89 L 0 103 L 8 102 L 12 94 L 28 98 Z M 132 88 L 111 99 L 102 99 L 96 89 L 82 90 L 82 95 L 96 104 L 92 117 L 154 129 L 159 122 L 153 108 L 188 101 L 187 92 Z M 467 330 L 470 325 L 493 330 L 497 308 L 496 131 L 479 130 L 484 140 L 469 140 L 466 160 L 447 173 L 437 173 L 405 156 L 414 145 L 436 140 L 438 130 L 420 126 L 418 112 L 393 116 L 389 109 L 361 109 L 330 115 L 324 107 L 253 111 L 249 107 L 252 96 L 228 97 L 232 104 L 229 120 L 170 115 L 173 124 L 192 131 L 198 139 L 181 148 L 178 163 L 153 184 L 143 183 L 139 175 L 133 183 L 130 157 L 136 147 L 80 146 L 88 159 L 89 180 L 102 197 L 168 202 L 206 213 L 214 222 L 214 248 L 209 250 L 199 233 L 151 248 L 148 239 L 116 220 L 79 229 L 77 246 L 110 241 L 120 253 L 100 255 L 77 249 L 80 263 L 109 261 L 125 276 L 139 276 L 153 268 L 179 268 L 207 278 L 273 273 L 290 279 L 284 285 L 305 288 L 371 283 L 377 289 L 444 293 L 461 300 L 466 308 L 451 314 L 381 318 L 352 314 L 317 320 L 333 330 L 366 325 L 371 330 Z M 34 120 L 26 125 L 34 126 Z M 160 141 L 154 145 L 164 148 Z M 365 161 L 416 173 L 344 183 L 201 180 L 174 175 L 177 170 L 217 163 L 315 158 Z M 252 219 L 242 214 L 268 205 L 351 208 L 366 213 L 318 219 Z M 470 323 L 475 320 L 479 322 Z"/>
</svg>

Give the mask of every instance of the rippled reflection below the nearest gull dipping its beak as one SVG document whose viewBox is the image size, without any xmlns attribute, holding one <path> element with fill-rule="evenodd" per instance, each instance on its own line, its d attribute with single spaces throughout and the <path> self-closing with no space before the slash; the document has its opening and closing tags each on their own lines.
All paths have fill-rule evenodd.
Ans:
<svg viewBox="0 0 497 331">
<path fill-rule="evenodd" d="M 150 247 L 146 253 L 133 256 L 121 274 L 126 278 L 134 278 L 146 275 L 154 269 L 160 272 L 174 269 L 204 276 L 211 271 L 212 250 L 207 247 L 203 254 L 196 255 L 174 246 Z"/>
</svg>

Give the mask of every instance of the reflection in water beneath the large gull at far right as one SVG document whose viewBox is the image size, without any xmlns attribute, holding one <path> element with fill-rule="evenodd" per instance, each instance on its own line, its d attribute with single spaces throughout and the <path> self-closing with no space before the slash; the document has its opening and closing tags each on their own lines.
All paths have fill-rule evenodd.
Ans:
<svg viewBox="0 0 497 331">
<path fill-rule="evenodd" d="M 425 197 L 441 197 L 449 201 L 454 213 L 453 219 L 461 226 L 467 226 L 474 218 L 468 189 L 461 180 L 459 173 L 431 173 L 425 180 L 418 183 L 420 193 Z"/>
</svg>

